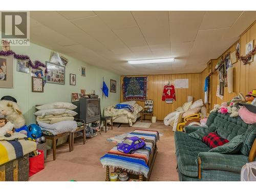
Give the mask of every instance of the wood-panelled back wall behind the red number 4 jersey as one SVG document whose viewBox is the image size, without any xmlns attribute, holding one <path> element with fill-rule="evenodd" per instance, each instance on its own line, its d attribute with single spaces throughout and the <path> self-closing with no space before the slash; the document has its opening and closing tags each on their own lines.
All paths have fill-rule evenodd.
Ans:
<svg viewBox="0 0 256 192">
<path fill-rule="evenodd" d="M 201 98 L 201 73 L 190 74 L 172 74 L 172 75 L 140 75 L 147 76 L 147 99 L 154 101 L 154 116 L 158 120 L 163 120 L 164 117 L 173 112 L 184 102 L 187 102 L 187 96 L 193 96 L 194 101 Z M 123 84 L 123 77 L 121 76 L 121 90 Z M 129 76 L 132 77 L 132 76 Z M 165 84 L 174 82 L 175 79 L 188 79 L 188 89 L 175 89 L 176 101 L 174 103 L 165 103 L 162 101 L 163 87 Z M 120 101 L 123 102 L 123 93 L 120 93 Z M 137 101 L 141 106 L 144 106 L 144 101 Z"/>
</svg>

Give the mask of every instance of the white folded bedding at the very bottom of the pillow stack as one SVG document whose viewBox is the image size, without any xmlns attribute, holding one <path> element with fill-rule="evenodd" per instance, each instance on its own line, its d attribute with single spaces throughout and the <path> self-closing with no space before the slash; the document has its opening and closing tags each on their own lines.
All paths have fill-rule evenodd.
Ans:
<svg viewBox="0 0 256 192">
<path fill-rule="evenodd" d="M 54 132 L 54 135 L 66 132 L 74 132 L 77 129 L 76 121 L 60 121 L 54 124 L 38 122 L 38 125 L 42 130 L 50 131 L 51 133 Z"/>
</svg>

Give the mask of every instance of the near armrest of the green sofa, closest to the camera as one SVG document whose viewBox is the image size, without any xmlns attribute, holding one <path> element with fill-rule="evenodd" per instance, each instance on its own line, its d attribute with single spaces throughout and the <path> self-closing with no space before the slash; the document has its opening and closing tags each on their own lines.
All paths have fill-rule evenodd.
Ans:
<svg viewBox="0 0 256 192">
<path fill-rule="evenodd" d="M 227 170 L 240 173 L 242 166 L 248 162 L 248 157 L 244 155 L 213 152 L 200 152 L 198 154 L 198 164 L 201 169 Z"/>
</svg>

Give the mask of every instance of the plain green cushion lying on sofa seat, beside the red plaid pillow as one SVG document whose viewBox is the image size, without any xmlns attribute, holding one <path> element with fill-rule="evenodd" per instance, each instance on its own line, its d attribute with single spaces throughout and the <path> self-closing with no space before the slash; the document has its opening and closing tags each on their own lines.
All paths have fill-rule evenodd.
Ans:
<svg viewBox="0 0 256 192">
<path fill-rule="evenodd" d="M 233 139 L 231 139 L 231 141 L 229 141 L 228 143 L 212 148 L 208 152 L 216 152 L 216 153 L 223 153 L 223 154 L 237 154 L 241 150 L 243 140 L 244 140 L 244 135 L 238 135 Z"/>
</svg>

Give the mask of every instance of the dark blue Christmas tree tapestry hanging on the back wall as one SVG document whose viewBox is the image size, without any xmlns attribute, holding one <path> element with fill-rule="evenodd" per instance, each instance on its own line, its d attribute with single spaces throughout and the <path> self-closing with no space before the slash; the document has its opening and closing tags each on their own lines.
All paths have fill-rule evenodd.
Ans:
<svg viewBox="0 0 256 192">
<path fill-rule="evenodd" d="M 147 77 L 124 77 L 123 99 L 145 100 L 147 94 Z"/>
</svg>

